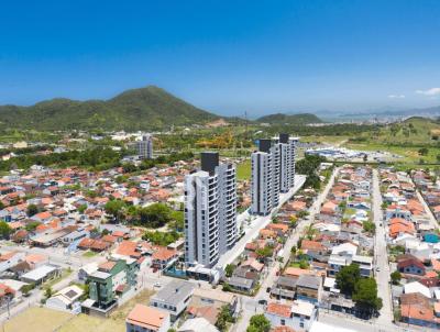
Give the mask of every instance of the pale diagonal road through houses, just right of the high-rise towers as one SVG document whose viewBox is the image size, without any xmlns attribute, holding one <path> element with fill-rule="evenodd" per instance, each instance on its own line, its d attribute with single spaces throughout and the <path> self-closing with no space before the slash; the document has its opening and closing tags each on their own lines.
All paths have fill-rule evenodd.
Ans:
<svg viewBox="0 0 440 332">
<path fill-rule="evenodd" d="M 338 171 L 339 171 L 339 168 L 336 168 L 333 170 L 333 174 L 330 177 L 330 180 L 327 184 L 326 188 L 322 190 L 322 192 L 315 200 L 314 204 L 310 207 L 309 215 L 298 223 L 298 226 L 295 229 L 294 233 L 286 241 L 286 244 L 284 245 L 284 254 L 283 254 L 284 264 L 287 264 L 287 261 L 290 256 L 290 250 L 294 245 L 296 245 L 299 236 L 304 233 L 304 230 L 306 229 L 306 226 L 308 226 L 315 220 L 315 215 L 320 211 L 322 202 L 324 201 L 327 195 L 329 193 L 331 187 L 333 186 L 334 178 L 336 178 L 336 175 L 338 174 Z M 270 266 L 270 269 L 265 272 L 262 286 L 261 286 L 258 292 L 255 295 L 255 298 L 250 298 L 250 297 L 245 297 L 245 296 L 241 297 L 242 316 L 241 316 L 240 321 L 234 325 L 233 331 L 238 331 L 238 332 L 245 331 L 249 325 L 249 321 L 250 321 L 251 317 L 254 316 L 255 313 L 264 312 L 263 306 L 258 305 L 257 301 L 262 300 L 262 299 L 270 300 L 270 294 L 266 292 L 266 288 L 272 287 L 274 285 L 274 281 L 277 278 L 276 272 L 279 269 L 279 267 L 280 267 L 280 264 L 278 262 L 275 262 L 275 263 L 273 263 L 272 266 Z"/>
</svg>

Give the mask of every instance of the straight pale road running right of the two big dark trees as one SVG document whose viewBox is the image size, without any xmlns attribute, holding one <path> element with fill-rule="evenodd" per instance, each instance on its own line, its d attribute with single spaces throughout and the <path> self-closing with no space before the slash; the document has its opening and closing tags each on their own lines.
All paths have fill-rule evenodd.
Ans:
<svg viewBox="0 0 440 332">
<path fill-rule="evenodd" d="M 374 262 L 375 266 L 380 268 L 380 272 L 376 270 L 375 277 L 377 281 L 378 295 L 383 301 L 383 307 L 380 312 L 381 316 L 377 318 L 376 323 L 384 327 L 394 327 L 393 303 L 389 288 L 391 270 L 385 240 L 386 225 L 384 223 L 383 215 L 378 174 L 376 169 L 373 169 L 373 218 L 374 223 L 376 224 L 376 235 L 374 239 Z"/>
</svg>

